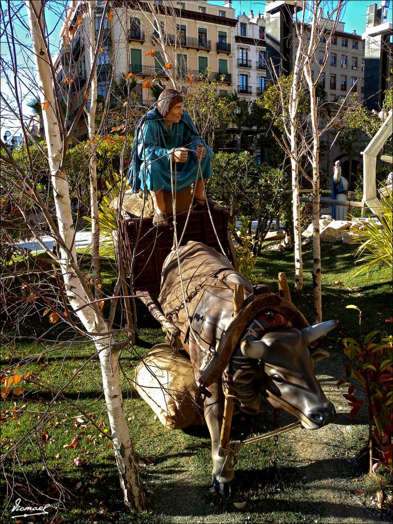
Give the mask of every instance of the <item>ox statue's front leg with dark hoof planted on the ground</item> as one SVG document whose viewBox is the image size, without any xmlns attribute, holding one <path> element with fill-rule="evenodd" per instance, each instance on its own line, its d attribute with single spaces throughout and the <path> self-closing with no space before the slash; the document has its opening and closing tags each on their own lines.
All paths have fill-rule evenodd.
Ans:
<svg viewBox="0 0 393 524">
<path fill-rule="evenodd" d="M 204 401 L 204 413 L 212 440 L 213 478 L 212 484 L 222 498 L 233 494 L 235 472 L 232 461 L 219 455 L 221 426 L 224 415 L 224 394 L 219 383 L 209 386 L 212 396 Z"/>
</svg>

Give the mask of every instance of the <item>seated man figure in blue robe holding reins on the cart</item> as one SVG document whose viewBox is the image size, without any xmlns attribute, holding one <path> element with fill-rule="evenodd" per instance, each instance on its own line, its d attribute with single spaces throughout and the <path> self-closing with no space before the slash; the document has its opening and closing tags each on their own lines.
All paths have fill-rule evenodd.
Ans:
<svg viewBox="0 0 393 524">
<path fill-rule="evenodd" d="M 196 182 L 194 200 L 203 208 L 206 205 L 204 183 L 212 176 L 213 152 L 198 134 L 190 115 L 183 110 L 182 94 L 165 89 L 158 97 L 157 107 L 137 123 L 127 177 L 135 192 L 150 192 L 155 210 L 153 224 L 159 226 L 168 225 L 163 191 L 172 191 L 171 152 L 173 188 L 176 162 L 176 190 L 181 191 Z M 198 158 L 201 159 L 201 173 L 196 181 Z"/>
</svg>

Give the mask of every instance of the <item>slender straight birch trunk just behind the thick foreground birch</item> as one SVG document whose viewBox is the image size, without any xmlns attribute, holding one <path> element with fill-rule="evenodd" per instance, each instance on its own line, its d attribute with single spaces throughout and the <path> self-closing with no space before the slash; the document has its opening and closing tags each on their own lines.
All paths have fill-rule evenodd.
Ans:
<svg viewBox="0 0 393 524">
<path fill-rule="evenodd" d="M 88 2 L 88 18 L 90 23 L 90 47 L 89 61 L 94 62 L 95 54 L 95 1 Z M 90 85 L 90 107 L 88 113 L 88 134 L 89 134 L 89 179 L 90 179 L 90 212 L 91 212 L 91 265 L 94 280 L 94 296 L 96 300 L 101 299 L 102 277 L 100 270 L 100 223 L 98 219 L 98 193 L 97 193 L 97 157 L 95 155 L 95 111 L 97 107 L 97 69 L 94 68 L 94 75 Z"/>
</svg>

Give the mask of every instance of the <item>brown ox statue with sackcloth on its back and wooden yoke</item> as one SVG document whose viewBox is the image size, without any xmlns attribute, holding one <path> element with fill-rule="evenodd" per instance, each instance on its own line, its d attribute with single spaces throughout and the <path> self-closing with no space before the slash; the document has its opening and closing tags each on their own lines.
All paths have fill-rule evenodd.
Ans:
<svg viewBox="0 0 393 524">
<path fill-rule="evenodd" d="M 240 286 L 239 286 L 240 285 Z M 241 297 L 234 300 L 236 291 Z M 225 396 L 256 414 L 259 396 L 285 410 L 307 429 L 336 418 L 314 375 L 314 362 L 329 353 L 310 344 L 337 321 L 309 326 L 290 301 L 267 286 L 253 288 L 227 258 L 202 243 L 172 251 L 162 269 L 159 302 L 180 330 L 196 383 L 205 394 L 204 414 L 212 440 L 213 486 L 231 495 L 234 469 L 220 449 Z"/>
</svg>

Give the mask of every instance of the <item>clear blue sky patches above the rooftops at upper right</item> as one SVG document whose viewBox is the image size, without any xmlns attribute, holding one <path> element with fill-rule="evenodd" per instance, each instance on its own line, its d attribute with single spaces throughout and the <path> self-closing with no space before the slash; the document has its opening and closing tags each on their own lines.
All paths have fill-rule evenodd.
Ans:
<svg viewBox="0 0 393 524">
<path fill-rule="evenodd" d="M 208 0 L 208 2 L 209 4 L 224 5 L 223 0 Z M 373 0 L 348 0 L 342 19 L 345 22 L 345 31 L 352 32 L 356 29 L 357 34 L 361 35 L 366 28 L 367 6 L 374 3 L 381 5 L 381 0 L 374 2 Z M 239 14 L 239 4 L 242 6 L 242 13 L 244 12 L 246 15 L 248 15 L 250 9 L 253 9 L 254 15 L 265 12 L 266 2 L 264 0 L 233 0 L 232 7 L 235 9 L 236 16 Z M 392 4 L 393 2 L 390 2 L 388 21 L 392 20 Z"/>
</svg>

